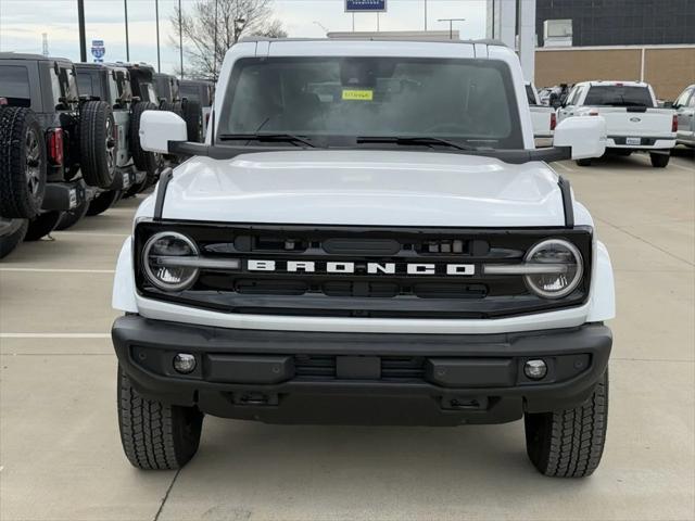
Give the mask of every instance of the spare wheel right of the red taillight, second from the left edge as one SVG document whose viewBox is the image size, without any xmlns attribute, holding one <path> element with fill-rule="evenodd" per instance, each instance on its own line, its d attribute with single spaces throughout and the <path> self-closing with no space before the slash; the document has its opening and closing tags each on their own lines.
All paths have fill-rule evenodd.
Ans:
<svg viewBox="0 0 695 521">
<path fill-rule="evenodd" d="M 116 125 L 105 101 L 88 101 L 79 117 L 79 151 L 87 185 L 109 188 L 116 176 Z"/>
</svg>

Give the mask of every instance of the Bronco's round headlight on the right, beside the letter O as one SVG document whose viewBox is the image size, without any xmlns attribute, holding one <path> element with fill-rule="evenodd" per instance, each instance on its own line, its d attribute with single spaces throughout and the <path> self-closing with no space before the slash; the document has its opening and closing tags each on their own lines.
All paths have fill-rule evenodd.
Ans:
<svg viewBox="0 0 695 521">
<path fill-rule="evenodd" d="M 525 258 L 527 264 L 547 264 L 547 272 L 526 275 L 527 285 L 544 298 L 561 298 L 579 285 L 584 270 L 582 254 L 571 242 L 547 239 L 535 244 Z"/>
</svg>

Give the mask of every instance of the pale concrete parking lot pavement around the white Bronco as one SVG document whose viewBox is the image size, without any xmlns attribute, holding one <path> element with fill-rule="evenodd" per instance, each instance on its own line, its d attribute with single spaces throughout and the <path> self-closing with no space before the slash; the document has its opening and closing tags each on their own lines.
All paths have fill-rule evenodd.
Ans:
<svg viewBox="0 0 695 521">
<path fill-rule="evenodd" d="M 612 255 L 606 452 L 586 480 L 526 459 L 521 422 L 277 427 L 206 418 L 180 472 L 123 457 L 110 270 L 134 202 L 0 264 L 3 520 L 691 520 L 695 516 L 695 161 L 556 165 Z M 51 271 L 52 270 L 52 271 Z M 73 271 L 65 271 L 73 270 Z"/>
</svg>

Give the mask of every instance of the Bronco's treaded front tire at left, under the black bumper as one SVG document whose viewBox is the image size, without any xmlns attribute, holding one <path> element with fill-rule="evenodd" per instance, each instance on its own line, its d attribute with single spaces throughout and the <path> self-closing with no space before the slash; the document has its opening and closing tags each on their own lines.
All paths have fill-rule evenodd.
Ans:
<svg viewBox="0 0 695 521">
<path fill-rule="evenodd" d="M 118 428 L 126 457 L 138 469 L 180 469 L 200 444 L 203 414 L 144 398 L 118 366 Z"/>
</svg>

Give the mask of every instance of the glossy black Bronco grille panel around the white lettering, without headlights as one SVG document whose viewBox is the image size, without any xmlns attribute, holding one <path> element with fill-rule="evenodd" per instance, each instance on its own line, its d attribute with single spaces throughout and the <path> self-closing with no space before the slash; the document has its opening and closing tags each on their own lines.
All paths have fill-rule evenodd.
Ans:
<svg viewBox="0 0 695 521">
<path fill-rule="evenodd" d="M 161 231 L 191 238 L 201 256 L 240 258 L 239 270 L 202 269 L 185 291 L 152 285 L 140 257 Z M 564 239 L 582 254 L 584 276 L 569 295 L 542 298 L 519 275 L 483 275 L 483 264 L 519 264 L 541 240 Z M 140 295 L 222 313 L 358 318 L 501 318 L 579 306 L 589 296 L 592 229 L 409 228 L 140 221 L 135 232 Z M 251 271 L 248 260 L 274 260 L 277 271 Z M 314 262 L 316 272 L 287 272 L 288 260 Z M 328 262 L 354 263 L 354 274 L 327 274 Z M 367 263 L 395 263 L 396 274 L 367 274 Z M 434 275 L 406 275 L 431 263 Z M 448 276 L 446 264 L 475 265 L 471 276 Z"/>
</svg>

